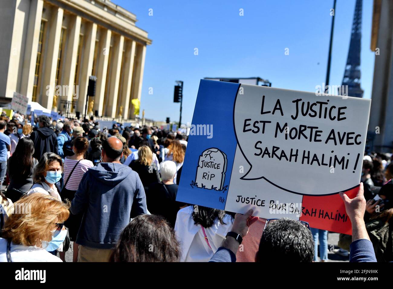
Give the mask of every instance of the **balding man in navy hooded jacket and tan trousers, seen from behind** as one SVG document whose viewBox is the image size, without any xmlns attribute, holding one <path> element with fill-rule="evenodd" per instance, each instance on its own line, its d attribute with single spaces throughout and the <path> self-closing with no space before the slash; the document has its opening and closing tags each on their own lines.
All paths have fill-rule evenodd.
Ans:
<svg viewBox="0 0 393 289">
<path fill-rule="evenodd" d="M 83 214 L 78 262 L 107 262 L 130 219 L 148 213 L 139 175 L 120 163 L 122 156 L 123 143 L 107 138 L 102 162 L 84 173 L 72 200 L 72 214 Z"/>
</svg>

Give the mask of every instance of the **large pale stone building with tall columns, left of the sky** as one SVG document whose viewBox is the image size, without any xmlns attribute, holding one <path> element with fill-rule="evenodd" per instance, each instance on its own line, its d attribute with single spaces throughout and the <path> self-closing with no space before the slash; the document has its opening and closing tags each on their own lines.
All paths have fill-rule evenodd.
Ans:
<svg viewBox="0 0 393 289">
<path fill-rule="evenodd" d="M 147 32 L 110 0 L 7 0 L 0 10 L 0 102 L 14 92 L 50 110 L 134 119 Z"/>
</svg>

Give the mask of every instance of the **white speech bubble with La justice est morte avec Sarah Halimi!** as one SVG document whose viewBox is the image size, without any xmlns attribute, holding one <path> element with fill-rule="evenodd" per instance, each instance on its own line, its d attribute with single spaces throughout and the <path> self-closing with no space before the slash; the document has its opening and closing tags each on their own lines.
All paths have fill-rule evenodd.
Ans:
<svg viewBox="0 0 393 289">
<path fill-rule="evenodd" d="M 233 109 L 237 143 L 250 165 L 243 180 L 265 179 L 301 195 L 358 186 L 371 101 L 241 85 Z"/>
</svg>

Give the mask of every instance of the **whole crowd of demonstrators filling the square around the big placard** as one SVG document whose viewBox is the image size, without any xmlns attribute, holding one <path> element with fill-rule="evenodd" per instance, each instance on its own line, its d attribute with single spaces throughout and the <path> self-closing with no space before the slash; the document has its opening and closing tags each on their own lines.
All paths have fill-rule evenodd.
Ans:
<svg viewBox="0 0 393 289">
<path fill-rule="evenodd" d="M 0 116 L 0 261 L 327 261 L 327 232 L 176 201 L 187 136 L 84 119 Z M 343 199 L 350 261 L 393 261 L 393 162 L 364 157 Z M 73 243 L 72 243 L 73 242 Z"/>
</svg>

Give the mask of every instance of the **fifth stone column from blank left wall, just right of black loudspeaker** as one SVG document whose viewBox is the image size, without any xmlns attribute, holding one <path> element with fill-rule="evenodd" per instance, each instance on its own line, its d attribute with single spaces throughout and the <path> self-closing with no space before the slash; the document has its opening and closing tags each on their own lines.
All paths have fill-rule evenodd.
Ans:
<svg viewBox="0 0 393 289">
<path fill-rule="evenodd" d="M 97 83 L 95 87 L 95 97 L 94 97 L 94 107 L 93 110 L 98 110 L 99 116 L 102 115 L 103 103 L 104 103 L 104 94 L 105 94 L 105 82 L 107 79 L 107 70 L 108 70 L 108 57 L 109 57 L 109 48 L 110 48 L 110 37 L 112 35 L 112 31 L 110 30 L 102 30 L 101 31 L 101 39 L 99 41 L 100 49 L 98 63 L 97 63 Z"/>
</svg>

